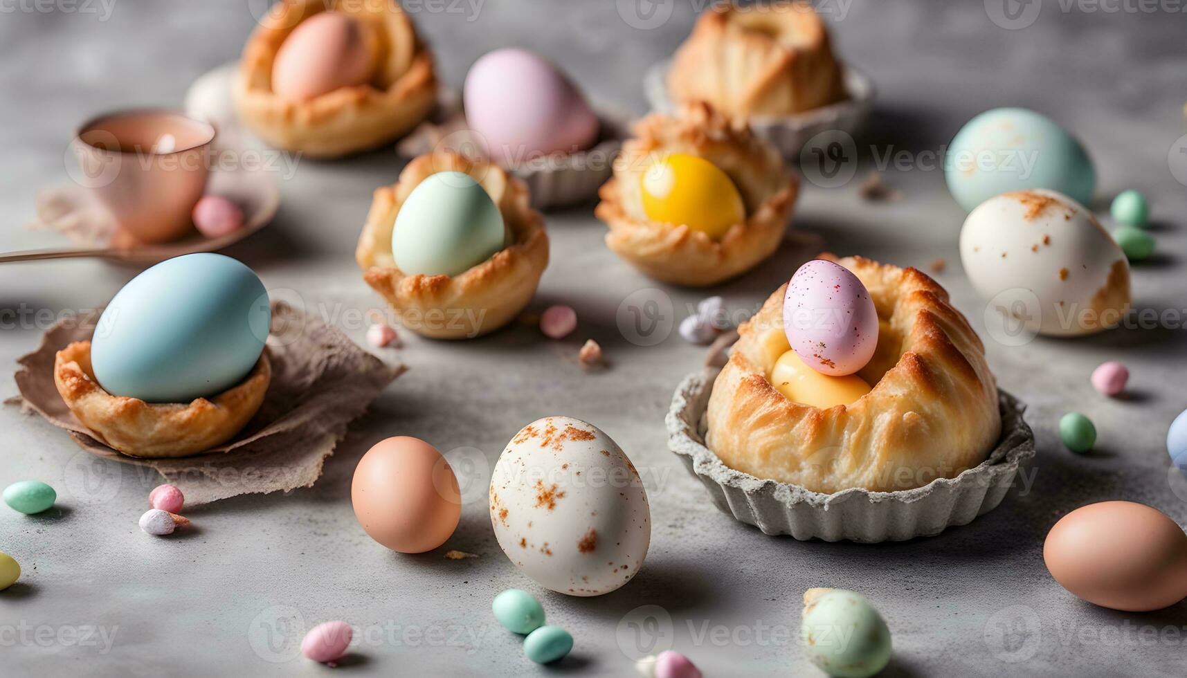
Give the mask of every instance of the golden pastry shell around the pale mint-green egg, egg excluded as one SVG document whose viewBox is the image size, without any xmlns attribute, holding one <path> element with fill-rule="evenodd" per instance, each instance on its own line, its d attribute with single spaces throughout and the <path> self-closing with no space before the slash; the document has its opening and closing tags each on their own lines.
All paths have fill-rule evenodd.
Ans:
<svg viewBox="0 0 1187 678">
<path fill-rule="evenodd" d="M 464 172 L 482 184 L 499 205 L 512 243 L 459 275 L 406 275 L 392 255 L 395 215 L 420 182 L 445 171 Z M 399 182 L 375 190 L 355 259 L 367 284 L 410 330 L 450 340 L 484 335 L 523 310 L 548 266 L 544 217 L 528 202 L 523 182 L 497 165 L 455 153 L 426 153 L 408 163 Z"/>
</svg>

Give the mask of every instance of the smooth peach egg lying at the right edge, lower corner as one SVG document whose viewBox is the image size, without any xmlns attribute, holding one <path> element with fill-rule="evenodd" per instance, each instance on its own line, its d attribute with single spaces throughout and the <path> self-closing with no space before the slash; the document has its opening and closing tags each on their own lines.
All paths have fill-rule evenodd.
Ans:
<svg viewBox="0 0 1187 678">
<path fill-rule="evenodd" d="M 1077 508 L 1047 533 L 1042 557 L 1061 587 L 1102 607 L 1148 612 L 1187 597 L 1187 534 L 1142 503 Z"/>
</svg>

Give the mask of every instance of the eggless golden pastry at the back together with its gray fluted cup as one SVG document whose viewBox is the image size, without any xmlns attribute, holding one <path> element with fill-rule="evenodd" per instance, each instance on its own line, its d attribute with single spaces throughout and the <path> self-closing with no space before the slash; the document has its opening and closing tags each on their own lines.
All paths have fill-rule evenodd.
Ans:
<svg viewBox="0 0 1187 678">
<path fill-rule="evenodd" d="M 742 118 L 787 158 L 820 132 L 855 132 L 874 101 L 872 83 L 842 66 L 824 20 L 801 1 L 715 5 L 648 71 L 645 90 L 661 113 L 704 101 Z"/>
</svg>

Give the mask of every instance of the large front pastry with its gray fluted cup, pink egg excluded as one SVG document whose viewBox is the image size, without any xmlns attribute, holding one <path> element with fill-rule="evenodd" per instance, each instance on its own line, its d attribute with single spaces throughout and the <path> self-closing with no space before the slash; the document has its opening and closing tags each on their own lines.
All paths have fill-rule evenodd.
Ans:
<svg viewBox="0 0 1187 678">
<path fill-rule="evenodd" d="M 995 508 L 1035 454 L 1034 436 L 972 327 L 914 268 L 821 259 L 868 290 L 877 327 L 868 362 L 848 376 L 806 367 L 785 331 L 785 284 L 741 325 L 723 367 L 711 356 L 679 386 L 672 451 L 722 511 L 768 534 L 902 540 Z"/>
</svg>

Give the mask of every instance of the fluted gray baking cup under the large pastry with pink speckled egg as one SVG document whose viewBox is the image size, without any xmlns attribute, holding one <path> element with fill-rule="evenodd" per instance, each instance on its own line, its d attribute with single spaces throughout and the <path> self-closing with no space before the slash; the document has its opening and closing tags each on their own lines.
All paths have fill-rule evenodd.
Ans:
<svg viewBox="0 0 1187 678">
<path fill-rule="evenodd" d="M 767 534 L 870 544 L 939 534 L 996 508 L 1021 462 L 1035 455 L 1034 433 L 1022 418 L 1026 406 L 998 391 L 1002 437 L 984 462 L 954 479 L 897 492 L 851 488 L 833 494 L 757 479 L 729 468 L 705 446 L 705 411 L 719 372 L 706 367 L 680 382 L 666 418 L 668 448 L 717 508 Z"/>
</svg>

